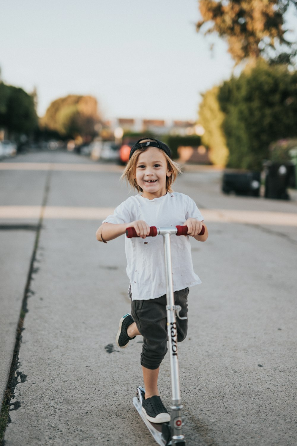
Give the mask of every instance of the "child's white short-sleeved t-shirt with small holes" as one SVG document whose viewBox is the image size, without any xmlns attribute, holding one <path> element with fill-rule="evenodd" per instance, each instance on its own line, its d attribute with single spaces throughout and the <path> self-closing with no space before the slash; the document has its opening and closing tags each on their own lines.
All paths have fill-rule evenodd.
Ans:
<svg viewBox="0 0 297 446">
<path fill-rule="evenodd" d="M 144 220 L 149 226 L 183 225 L 188 218 L 203 221 L 195 202 L 184 194 L 167 192 L 149 200 L 141 195 L 127 198 L 103 223 L 130 223 Z M 166 294 L 163 236 L 131 238 L 125 236 L 127 275 L 132 300 L 148 300 Z M 194 273 L 189 236 L 171 235 L 173 290 L 201 283 Z"/>
</svg>

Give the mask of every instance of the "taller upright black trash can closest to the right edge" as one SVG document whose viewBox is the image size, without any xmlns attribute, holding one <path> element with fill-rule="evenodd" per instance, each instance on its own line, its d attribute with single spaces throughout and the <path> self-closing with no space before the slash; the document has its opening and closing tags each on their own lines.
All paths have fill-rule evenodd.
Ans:
<svg viewBox="0 0 297 446">
<path fill-rule="evenodd" d="M 292 162 L 264 161 L 265 198 L 289 200 L 288 187 L 295 187 L 295 166 Z"/>
</svg>

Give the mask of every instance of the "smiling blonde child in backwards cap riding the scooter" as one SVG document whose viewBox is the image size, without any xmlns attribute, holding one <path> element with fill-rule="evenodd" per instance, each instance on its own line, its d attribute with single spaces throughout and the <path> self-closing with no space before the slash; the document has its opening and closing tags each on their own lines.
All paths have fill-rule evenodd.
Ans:
<svg viewBox="0 0 297 446">
<path fill-rule="evenodd" d="M 96 232 L 97 240 L 106 243 L 134 227 L 140 238 L 126 240 L 127 275 L 130 279 L 131 314 L 119 324 L 116 343 L 127 347 L 137 335 L 143 336 L 141 365 L 145 386 L 142 410 L 154 423 L 170 421 L 158 391 L 160 364 L 167 352 L 166 275 L 163 237 L 149 237 L 150 226 L 187 225 L 187 234 L 205 241 L 207 227 L 195 202 L 187 195 L 173 192 L 179 166 L 171 160 L 169 147 L 151 138 L 139 140 L 131 149 L 130 159 L 122 178 L 138 190 L 109 215 Z M 205 227 L 203 235 L 199 235 Z M 171 236 L 173 289 L 180 316 L 187 315 L 189 286 L 201 283 L 193 271 L 188 236 Z M 178 342 L 187 335 L 187 319 L 177 318 Z"/>
</svg>

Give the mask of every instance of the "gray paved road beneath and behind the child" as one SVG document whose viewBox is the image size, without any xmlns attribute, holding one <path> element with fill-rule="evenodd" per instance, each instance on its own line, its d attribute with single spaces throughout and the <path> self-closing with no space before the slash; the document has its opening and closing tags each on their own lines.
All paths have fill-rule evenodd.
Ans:
<svg viewBox="0 0 297 446">
<path fill-rule="evenodd" d="M 192 242 L 202 284 L 179 345 L 187 445 L 295 446 L 296 191 L 287 202 L 224 196 L 219 171 L 190 170 L 175 190 L 210 235 Z M 114 341 L 130 310 L 124 237 L 95 239 L 128 197 L 120 174 L 73 153 L 0 163 L 1 396 L 26 311 L 5 446 L 155 444 L 132 404 L 141 339 Z M 159 389 L 169 408 L 168 357 Z"/>
</svg>

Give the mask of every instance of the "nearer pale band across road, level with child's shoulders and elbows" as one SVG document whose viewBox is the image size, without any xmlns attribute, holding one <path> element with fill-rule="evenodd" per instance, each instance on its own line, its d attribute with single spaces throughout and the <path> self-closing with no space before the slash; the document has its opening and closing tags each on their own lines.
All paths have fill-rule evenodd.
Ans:
<svg viewBox="0 0 297 446">
<path fill-rule="evenodd" d="M 0 219 L 36 219 L 41 212 L 45 219 L 102 220 L 114 212 L 114 207 L 0 206 Z M 205 223 L 297 226 L 297 213 L 203 209 L 202 214 Z"/>
</svg>

